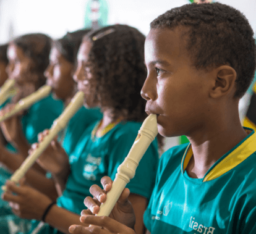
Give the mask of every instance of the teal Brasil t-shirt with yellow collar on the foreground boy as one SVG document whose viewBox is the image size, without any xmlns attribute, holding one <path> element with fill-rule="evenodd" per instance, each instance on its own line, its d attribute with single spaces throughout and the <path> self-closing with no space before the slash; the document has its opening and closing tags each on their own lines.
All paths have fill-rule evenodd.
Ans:
<svg viewBox="0 0 256 234">
<path fill-rule="evenodd" d="M 251 130 L 245 128 L 246 130 Z M 256 133 L 224 154 L 203 178 L 190 178 L 189 143 L 161 156 L 144 214 L 152 233 L 256 233 Z"/>
</svg>

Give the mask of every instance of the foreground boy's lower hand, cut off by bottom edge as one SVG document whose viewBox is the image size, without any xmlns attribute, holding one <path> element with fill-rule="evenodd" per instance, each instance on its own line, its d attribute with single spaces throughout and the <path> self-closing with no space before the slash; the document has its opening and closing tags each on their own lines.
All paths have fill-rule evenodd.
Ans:
<svg viewBox="0 0 256 234">
<path fill-rule="evenodd" d="M 120 224 L 116 220 L 113 220 L 106 216 L 94 216 L 94 215 L 85 215 L 83 216 L 84 224 L 92 224 L 91 227 L 83 227 L 81 225 L 72 225 L 69 227 L 69 232 L 72 234 L 110 234 L 110 233 L 119 233 L 119 234 L 136 234 L 132 228 L 127 227 L 126 225 Z M 82 219 L 82 217 L 81 217 Z M 103 228 L 101 228 L 103 227 Z"/>
</svg>

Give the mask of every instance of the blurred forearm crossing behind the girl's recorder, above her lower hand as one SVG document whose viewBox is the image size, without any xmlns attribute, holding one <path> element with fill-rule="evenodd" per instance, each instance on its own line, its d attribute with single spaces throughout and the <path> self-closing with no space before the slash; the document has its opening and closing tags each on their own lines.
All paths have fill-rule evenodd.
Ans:
<svg viewBox="0 0 256 234">
<path fill-rule="evenodd" d="M 11 170 L 15 172 L 19 169 L 20 165 L 23 163 L 23 157 L 19 154 L 12 154 L 9 151 L 6 151 L 6 155 L 2 160 L 2 163 Z M 25 173 L 26 181 L 36 188 L 36 190 L 41 191 L 42 193 L 49 196 L 51 199 L 57 199 L 58 194 L 54 186 L 54 182 L 51 179 L 45 177 L 45 175 L 37 170 L 30 168 L 27 173 Z"/>
</svg>

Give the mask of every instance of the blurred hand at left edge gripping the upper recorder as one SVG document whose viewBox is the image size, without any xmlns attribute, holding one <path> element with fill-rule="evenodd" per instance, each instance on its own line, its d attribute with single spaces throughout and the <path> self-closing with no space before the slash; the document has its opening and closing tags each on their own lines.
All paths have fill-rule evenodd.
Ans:
<svg viewBox="0 0 256 234">
<path fill-rule="evenodd" d="M 0 111 L 0 116 L 4 116 L 4 114 L 12 111 L 14 109 L 15 104 L 8 104 L 4 109 Z M 20 116 L 23 114 L 23 111 L 13 115 L 9 119 L 4 120 L 0 123 L 2 128 L 2 133 L 7 141 L 14 144 L 19 144 L 25 139 L 25 136 L 22 132 L 22 125 L 20 121 Z"/>
</svg>

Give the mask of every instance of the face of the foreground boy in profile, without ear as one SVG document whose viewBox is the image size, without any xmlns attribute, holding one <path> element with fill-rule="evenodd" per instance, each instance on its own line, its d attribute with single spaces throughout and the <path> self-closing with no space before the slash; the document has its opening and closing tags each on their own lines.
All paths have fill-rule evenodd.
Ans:
<svg viewBox="0 0 256 234">
<path fill-rule="evenodd" d="M 189 136 L 207 120 L 211 73 L 197 71 L 186 50 L 182 29 L 151 29 L 145 41 L 148 76 L 142 87 L 147 114 L 158 114 L 163 136 Z M 211 112 L 211 111 L 210 111 Z"/>
</svg>

